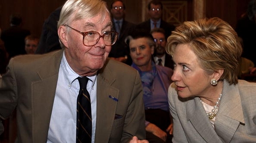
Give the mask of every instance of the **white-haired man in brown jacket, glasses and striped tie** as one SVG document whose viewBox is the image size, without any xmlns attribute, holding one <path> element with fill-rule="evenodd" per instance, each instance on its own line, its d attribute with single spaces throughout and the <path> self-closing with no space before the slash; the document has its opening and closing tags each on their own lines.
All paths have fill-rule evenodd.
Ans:
<svg viewBox="0 0 256 143">
<path fill-rule="evenodd" d="M 111 26 L 103 0 L 67 0 L 58 21 L 62 50 L 10 60 L 0 118 L 17 109 L 18 143 L 148 143 L 140 75 L 107 58 L 117 38 Z M 88 81 L 83 95 L 80 78 Z"/>
</svg>

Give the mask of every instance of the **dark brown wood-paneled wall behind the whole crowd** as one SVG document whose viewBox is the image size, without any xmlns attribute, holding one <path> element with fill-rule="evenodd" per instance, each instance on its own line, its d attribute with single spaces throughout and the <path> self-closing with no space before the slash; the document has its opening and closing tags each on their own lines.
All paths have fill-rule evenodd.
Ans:
<svg viewBox="0 0 256 143">
<path fill-rule="evenodd" d="M 31 30 L 31 33 L 41 35 L 44 20 L 57 7 L 66 0 L 0 0 L 0 28 L 9 27 L 9 16 L 12 13 L 20 13 L 23 18 L 23 27 Z M 110 5 L 112 0 L 105 0 Z M 126 5 L 126 20 L 138 24 L 143 19 L 143 10 L 149 0 L 123 0 Z M 171 0 L 162 0 L 171 1 Z M 177 0 L 176 0 L 177 1 Z M 184 1 L 184 0 L 183 0 Z M 193 14 L 197 9 L 193 9 L 193 2 L 197 0 L 187 0 L 188 20 L 193 20 Z M 237 18 L 242 15 L 249 0 L 204 0 L 206 3 L 206 17 L 220 17 L 235 27 Z M 143 3 L 145 6 L 143 7 Z M 144 8 L 144 9 L 143 9 Z M 145 16 L 145 15 L 144 15 Z M 146 17 L 147 18 L 147 17 Z"/>
</svg>

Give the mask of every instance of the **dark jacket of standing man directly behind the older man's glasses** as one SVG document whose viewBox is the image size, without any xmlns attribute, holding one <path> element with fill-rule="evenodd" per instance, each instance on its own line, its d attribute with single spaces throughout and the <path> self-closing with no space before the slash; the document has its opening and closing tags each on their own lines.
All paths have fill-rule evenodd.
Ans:
<svg viewBox="0 0 256 143">
<path fill-rule="evenodd" d="M 113 22 L 113 21 L 112 21 Z M 119 33 L 119 37 L 114 45 L 112 45 L 111 51 L 109 53 L 109 57 L 124 57 L 128 56 L 128 60 L 126 64 L 131 65 L 132 60 L 130 57 L 130 49 L 125 44 L 125 38 L 130 35 L 130 33 L 134 30 L 135 24 L 123 20 L 122 27 Z M 113 22 L 113 29 L 116 30 L 116 24 Z"/>
</svg>

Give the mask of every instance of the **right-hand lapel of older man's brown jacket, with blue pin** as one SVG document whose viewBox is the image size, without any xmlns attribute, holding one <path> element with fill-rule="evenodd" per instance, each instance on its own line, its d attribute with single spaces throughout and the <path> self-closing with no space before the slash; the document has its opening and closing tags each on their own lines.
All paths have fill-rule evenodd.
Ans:
<svg viewBox="0 0 256 143">
<path fill-rule="evenodd" d="M 119 89 L 112 87 L 115 79 L 112 78 L 109 69 L 105 68 L 104 73 L 97 77 L 97 121 L 95 131 L 95 143 L 105 143 L 109 140 L 112 124 L 116 115 L 118 101 L 112 97 L 119 98 Z M 102 130 L 104 127 L 104 130 Z M 107 143 L 107 142 L 106 142 Z"/>
</svg>

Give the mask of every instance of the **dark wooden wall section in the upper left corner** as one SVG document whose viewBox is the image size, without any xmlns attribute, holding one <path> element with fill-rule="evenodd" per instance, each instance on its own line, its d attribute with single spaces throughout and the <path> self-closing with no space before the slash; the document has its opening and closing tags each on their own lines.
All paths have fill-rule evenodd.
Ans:
<svg viewBox="0 0 256 143">
<path fill-rule="evenodd" d="M 41 35 L 44 20 L 65 0 L 0 0 L 0 28 L 9 27 L 9 16 L 19 13 L 23 27 L 32 34 Z"/>
</svg>

